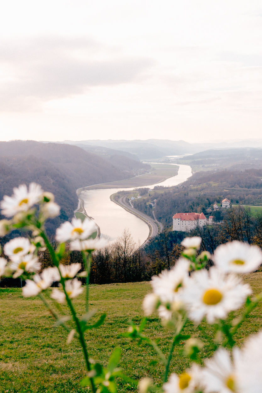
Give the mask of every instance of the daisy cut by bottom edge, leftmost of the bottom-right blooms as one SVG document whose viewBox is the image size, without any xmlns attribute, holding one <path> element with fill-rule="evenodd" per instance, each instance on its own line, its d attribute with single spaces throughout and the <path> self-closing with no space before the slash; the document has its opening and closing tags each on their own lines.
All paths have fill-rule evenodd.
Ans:
<svg viewBox="0 0 262 393">
<path fill-rule="evenodd" d="M 163 384 L 166 393 L 194 393 L 202 390 L 201 369 L 197 364 L 178 376 L 171 374 L 169 381 Z"/>
</svg>

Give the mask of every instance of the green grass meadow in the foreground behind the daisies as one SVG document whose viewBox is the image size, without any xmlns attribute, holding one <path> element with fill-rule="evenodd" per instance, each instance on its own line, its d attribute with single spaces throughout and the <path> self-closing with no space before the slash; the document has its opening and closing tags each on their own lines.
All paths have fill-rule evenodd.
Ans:
<svg viewBox="0 0 262 393">
<path fill-rule="evenodd" d="M 249 275 L 245 279 L 253 286 L 255 293 L 262 290 L 262 273 Z M 145 343 L 124 338 L 128 321 L 139 323 L 142 319 L 141 303 L 150 291 L 150 283 L 126 283 L 90 286 L 90 309 L 98 314 L 107 313 L 105 323 L 86 334 L 89 356 L 103 360 L 104 364 L 115 347 L 122 349 L 120 367 L 124 372 L 139 379 L 152 376 L 156 383 L 162 379 L 162 366 L 150 365 L 157 359 L 155 351 Z M 81 349 L 76 340 L 66 345 L 67 333 L 52 328 L 53 318 L 39 298 L 23 298 L 20 288 L 0 288 L 1 336 L 0 336 L 0 392 L 8 393 L 78 393 L 89 391 L 79 386 L 85 375 Z M 84 299 L 74 301 L 79 313 L 83 312 Z M 238 332 L 239 345 L 245 336 L 257 332 L 262 325 L 262 307 L 258 306 L 247 318 Z M 212 327 L 204 325 L 206 333 Z M 168 352 L 171 332 L 162 328 L 157 315 L 149 319 L 145 332 L 164 353 Z M 204 343 L 201 354 L 211 355 L 210 347 L 201 331 L 188 322 L 185 332 L 192 333 Z M 188 360 L 181 354 L 183 344 L 175 348 L 171 370 L 181 373 L 188 367 Z M 120 392 L 135 391 L 134 386 L 119 381 Z"/>
</svg>

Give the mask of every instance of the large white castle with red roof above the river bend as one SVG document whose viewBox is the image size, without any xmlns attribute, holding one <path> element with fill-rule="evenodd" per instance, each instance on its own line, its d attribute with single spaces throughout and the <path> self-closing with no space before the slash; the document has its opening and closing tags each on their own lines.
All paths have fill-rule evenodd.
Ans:
<svg viewBox="0 0 262 393">
<path fill-rule="evenodd" d="M 173 231 L 191 231 L 206 224 L 207 218 L 203 213 L 176 213 L 173 216 Z"/>
</svg>

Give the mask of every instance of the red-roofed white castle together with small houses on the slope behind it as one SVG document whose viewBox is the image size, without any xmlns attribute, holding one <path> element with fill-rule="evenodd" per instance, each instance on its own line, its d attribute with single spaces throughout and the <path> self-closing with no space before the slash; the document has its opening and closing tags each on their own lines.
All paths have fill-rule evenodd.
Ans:
<svg viewBox="0 0 262 393">
<path fill-rule="evenodd" d="M 221 202 L 221 207 L 228 209 L 230 208 L 230 200 L 225 198 Z M 219 207 L 214 204 L 214 210 Z M 211 209 L 208 209 L 212 211 Z M 208 211 L 207 210 L 207 211 Z M 204 225 L 212 224 L 214 216 L 209 216 L 208 219 L 204 213 L 176 213 L 173 216 L 173 231 L 191 231 L 196 227 L 203 228 Z"/>
</svg>

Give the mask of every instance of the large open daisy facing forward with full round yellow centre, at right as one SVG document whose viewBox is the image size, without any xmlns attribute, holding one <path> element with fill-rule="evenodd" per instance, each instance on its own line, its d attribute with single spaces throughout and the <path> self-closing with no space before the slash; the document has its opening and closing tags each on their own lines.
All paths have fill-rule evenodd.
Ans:
<svg viewBox="0 0 262 393">
<path fill-rule="evenodd" d="M 208 323 L 226 318 L 230 311 L 242 306 L 248 295 L 252 293 L 248 284 L 242 284 L 234 275 L 225 275 L 215 267 L 197 270 L 186 282 L 181 294 L 186 304 L 188 316 L 200 323 L 204 316 Z"/>
</svg>

